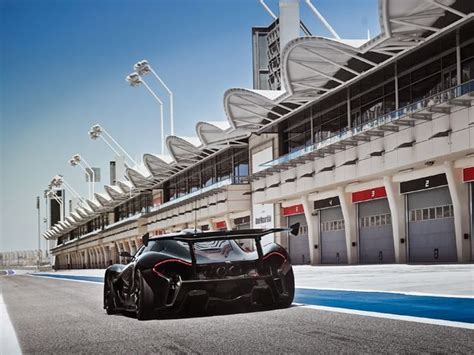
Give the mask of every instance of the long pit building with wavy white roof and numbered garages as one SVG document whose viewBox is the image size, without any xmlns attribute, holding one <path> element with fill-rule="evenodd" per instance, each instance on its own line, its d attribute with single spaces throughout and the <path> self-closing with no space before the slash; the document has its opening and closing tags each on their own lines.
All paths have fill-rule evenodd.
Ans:
<svg viewBox="0 0 474 355">
<path fill-rule="evenodd" d="M 369 41 L 281 36 L 281 89 L 229 89 L 227 121 L 167 137 L 54 225 L 56 267 L 118 262 L 146 232 L 297 221 L 267 237 L 294 264 L 472 261 L 473 11 L 380 0 Z"/>
</svg>

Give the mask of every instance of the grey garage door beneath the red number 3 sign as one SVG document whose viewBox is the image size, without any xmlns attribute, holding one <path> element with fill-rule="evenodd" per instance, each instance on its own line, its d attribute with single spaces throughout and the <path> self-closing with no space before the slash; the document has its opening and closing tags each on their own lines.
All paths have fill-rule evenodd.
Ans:
<svg viewBox="0 0 474 355">
<path fill-rule="evenodd" d="M 361 263 L 393 263 L 392 218 L 383 198 L 357 205 L 359 216 L 359 260 Z"/>
</svg>

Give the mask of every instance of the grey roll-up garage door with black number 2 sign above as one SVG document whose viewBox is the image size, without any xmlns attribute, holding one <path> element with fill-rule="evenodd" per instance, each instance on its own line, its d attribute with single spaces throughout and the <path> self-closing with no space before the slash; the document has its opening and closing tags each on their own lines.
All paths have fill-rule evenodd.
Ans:
<svg viewBox="0 0 474 355">
<path fill-rule="evenodd" d="M 446 184 L 444 174 L 419 179 L 426 188 Z M 411 183 L 400 184 L 401 192 Z M 406 184 L 403 186 L 403 184 Z M 448 187 L 436 187 L 407 195 L 408 253 L 411 262 L 456 261 L 454 212 Z"/>
</svg>

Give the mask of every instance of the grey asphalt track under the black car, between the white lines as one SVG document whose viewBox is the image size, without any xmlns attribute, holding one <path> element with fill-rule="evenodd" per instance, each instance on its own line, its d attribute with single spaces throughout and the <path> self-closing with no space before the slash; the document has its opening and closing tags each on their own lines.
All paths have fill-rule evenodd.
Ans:
<svg viewBox="0 0 474 355">
<path fill-rule="evenodd" d="M 107 316 L 102 285 L 28 275 L 0 286 L 24 353 L 465 353 L 474 331 L 294 306 L 141 322 Z"/>
</svg>

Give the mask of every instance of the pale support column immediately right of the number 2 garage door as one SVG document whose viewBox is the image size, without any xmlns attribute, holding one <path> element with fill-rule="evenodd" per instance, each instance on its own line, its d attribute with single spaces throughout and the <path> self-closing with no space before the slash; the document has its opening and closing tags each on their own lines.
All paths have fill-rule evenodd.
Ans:
<svg viewBox="0 0 474 355">
<path fill-rule="evenodd" d="M 453 163 L 450 161 L 445 161 L 444 167 L 449 194 L 453 202 L 456 253 L 459 262 L 467 262 L 469 261 L 469 239 L 464 239 L 464 234 L 469 233 L 468 184 L 462 182 L 462 169 L 454 169 Z"/>
</svg>

